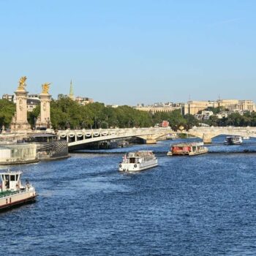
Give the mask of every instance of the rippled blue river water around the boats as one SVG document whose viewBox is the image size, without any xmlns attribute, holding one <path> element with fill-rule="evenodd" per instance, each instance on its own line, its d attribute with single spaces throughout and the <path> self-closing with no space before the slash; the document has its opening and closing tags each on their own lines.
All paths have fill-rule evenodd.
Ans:
<svg viewBox="0 0 256 256">
<path fill-rule="evenodd" d="M 20 166 L 39 196 L 0 214 L 0 255 L 256 255 L 256 153 L 242 153 L 256 140 L 222 141 L 195 157 L 163 141 Z M 141 149 L 159 166 L 118 173 Z"/>
</svg>

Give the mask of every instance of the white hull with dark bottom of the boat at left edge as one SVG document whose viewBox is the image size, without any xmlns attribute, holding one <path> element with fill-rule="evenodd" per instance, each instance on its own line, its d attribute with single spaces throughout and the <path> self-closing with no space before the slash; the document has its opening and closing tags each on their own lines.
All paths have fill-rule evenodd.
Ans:
<svg viewBox="0 0 256 256">
<path fill-rule="evenodd" d="M 26 203 L 33 203 L 36 197 L 37 194 L 35 192 L 22 192 L 1 197 L 0 211 L 7 211 L 10 208 L 18 207 Z"/>
</svg>

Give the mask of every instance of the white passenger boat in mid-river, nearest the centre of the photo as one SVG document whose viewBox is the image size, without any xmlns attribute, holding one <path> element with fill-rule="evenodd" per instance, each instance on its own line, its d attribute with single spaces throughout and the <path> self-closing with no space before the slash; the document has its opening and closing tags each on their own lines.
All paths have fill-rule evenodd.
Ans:
<svg viewBox="0 0 256 256">
<path fill-rule="evenodd" d="M 158 165 L 157 157 L 153 151 L 129 152 L 123 157 L 123 161 L 118 164 L 121 172 L 146 170 Z"/>
</svg>

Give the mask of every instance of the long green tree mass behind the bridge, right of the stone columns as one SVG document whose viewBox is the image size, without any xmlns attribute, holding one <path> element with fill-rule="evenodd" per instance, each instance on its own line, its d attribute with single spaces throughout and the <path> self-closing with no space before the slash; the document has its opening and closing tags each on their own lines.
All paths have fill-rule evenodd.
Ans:
<svg viewBox="0 0 256 256">
<path fill-rule="evenodd" d="M 50 104 L 50 112 L 54 129 L 152 127 L 162 123 L 163 120 L 169 121 L 173 129 L 198 125 L 194 116 L 184 117 L 179 110 L 153 115 L 127 105 L 111 108 L 96 102 L 83 106 L 69 98 L 53 100 Z M 35 109 L 32 114 L 36 117 L 38 113 L 39 111 Z"/>
</svg>

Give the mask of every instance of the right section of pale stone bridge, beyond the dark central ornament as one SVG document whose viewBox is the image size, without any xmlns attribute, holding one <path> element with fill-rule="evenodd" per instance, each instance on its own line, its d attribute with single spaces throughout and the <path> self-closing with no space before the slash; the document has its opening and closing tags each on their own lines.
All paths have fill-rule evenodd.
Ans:
<svg viewBox="0 0 256 256">
<path fill-rule="evenodd" d="M 256 138 L 256 127 L 192 127 L 192 129 L 182 133 L 201 138 L 204 143 L 211 143 L 211 139 L 219 135 L 237 135 Z"/>
</svg>

